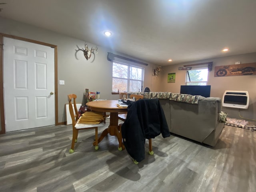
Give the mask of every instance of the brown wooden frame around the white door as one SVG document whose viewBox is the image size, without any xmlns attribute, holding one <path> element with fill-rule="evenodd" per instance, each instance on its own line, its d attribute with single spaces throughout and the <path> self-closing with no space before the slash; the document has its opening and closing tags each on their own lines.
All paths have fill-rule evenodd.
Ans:
<svg viewBox="0 0 256 192">
<path fill-rule="evenodd" d="M 22 40 L 30 43 L 40 44 L 48 47 L 54 48 L 54 92 L 55 92 L 55 125 L 58 125 L 58 56 L 57 56 L 57 46 L 49 43 L 44 43 L 32 39 L 27 39 L 23 37 L 18 37 L 14 35 L 0 33 L 0 74 L 2 78 L 0 78 L 0 119 L 1 119 L 1 131 L 0 134 L 6 133 L 5 128 L 5 117 L 4 117 L 4 58 L 3 58 L 3 38 L 8 37 L 16 40 Z"/>
</svg>

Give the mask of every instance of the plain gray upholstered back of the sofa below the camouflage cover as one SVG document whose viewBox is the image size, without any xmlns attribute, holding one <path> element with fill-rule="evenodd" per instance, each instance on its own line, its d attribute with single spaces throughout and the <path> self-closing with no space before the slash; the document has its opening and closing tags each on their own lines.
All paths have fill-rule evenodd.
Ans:
<svg viewBox="0 0 256 192">
<path fill-rule="evenodd" d="M 200 100 L 198 105 L 170 101 L 170 132 L 203 142 L 218 124 L 216 101 Z"/>
</svg>

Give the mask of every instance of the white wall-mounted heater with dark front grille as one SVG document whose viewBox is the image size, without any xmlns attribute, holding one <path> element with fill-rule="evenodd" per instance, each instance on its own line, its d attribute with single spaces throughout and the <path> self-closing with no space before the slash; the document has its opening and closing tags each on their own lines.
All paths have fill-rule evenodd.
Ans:
<svg viewBox="0 0 256 192">
<path fill-rule="evenodd" d="M 249 106 L 248 91 L 225 91 L 222 98 L 222 106 L 247 109 Z"/>
</svg>

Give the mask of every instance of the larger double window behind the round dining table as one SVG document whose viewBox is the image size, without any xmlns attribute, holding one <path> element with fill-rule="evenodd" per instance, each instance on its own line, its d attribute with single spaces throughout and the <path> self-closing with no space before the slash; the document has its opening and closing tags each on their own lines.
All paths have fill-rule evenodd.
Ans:
<svg viewBox="0 0 256 192">
<path fill-rule="evenodd" d="M 144 68 L 113 62 L 112 92 L 128 92 L 142 90 Z"/>
</svg>

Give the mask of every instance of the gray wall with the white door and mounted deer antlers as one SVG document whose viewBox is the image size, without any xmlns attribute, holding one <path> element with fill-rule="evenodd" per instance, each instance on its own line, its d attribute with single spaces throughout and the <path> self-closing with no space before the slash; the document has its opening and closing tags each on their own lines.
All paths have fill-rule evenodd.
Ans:
<svg viewBox="0 0 256 192">
<path fill-rule="evenodd" d="M 77 60 L 75 57 L 75 50 L 77 49 L 76 45 L 82 48 L 86 40 L 71 38 L 56 32 L 13 20 L 7 20 L 1 17 L 0 32 L 58 46 L 58 81 L 65 80 L 65 85 L 58 85 L 59 122 L 66 121 L 65 104 L 67 103 L 67 95 L 70 93 L 77 94 L 77 102 L 84 101 L 85 88 L 89 88 L 90 91 L 100 91 L 100 98 L 102 99 L 114 100 L 119 98 L 118 95 L 111 94 L 112 63 L 107 60 L 108 52 L 120 54 L 115 50 L 109 50 L 98 46 L 98 54 L 95 54 L 94 62 L 91 62 L 93 56 L 90 60 L 86 61 L 81 51 L 77 53 Z M 89 44 L 89 48 L 91 46 L 96 46 L 89 42 L 87 43 Z M 123 54 L 120 55 L 125 56 Z M 152 88 L 152 90 L 157 91 L 157 82 L 159 80 L 152 76 L 152 70 L 156 66 L 154 64 L 139 66 L 142 66 L 145 69 L 144 87 L 147 86 Z"/>
</svg>

